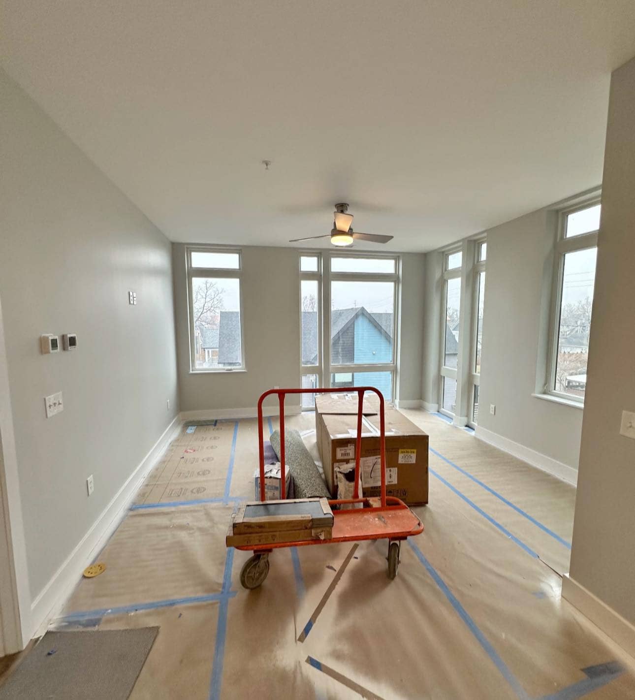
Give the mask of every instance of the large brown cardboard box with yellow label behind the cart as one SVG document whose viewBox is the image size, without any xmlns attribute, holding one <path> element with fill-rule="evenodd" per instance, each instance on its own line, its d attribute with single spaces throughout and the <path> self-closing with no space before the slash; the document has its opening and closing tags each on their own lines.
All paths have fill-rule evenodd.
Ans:
<svg viewBox="0 0 635 700">
<path fill-rule="evenodd" d="M 328 400 L 323 400 L 328 398 Z M 355 460 L 356 394 L 316 396 L 315 427 L 326 485 L 335 498 L 335 466 Z M 391 406 L 386 407 L 386 496 L 408 505 L 428 503 L 428 434 Z M 366 396 L 363 405 L 360 470 L 363 496 L 379 496 L 379 399 Z"/>
</svg>

